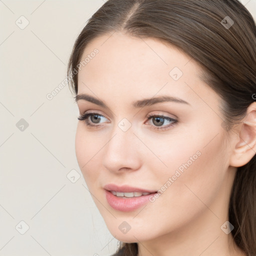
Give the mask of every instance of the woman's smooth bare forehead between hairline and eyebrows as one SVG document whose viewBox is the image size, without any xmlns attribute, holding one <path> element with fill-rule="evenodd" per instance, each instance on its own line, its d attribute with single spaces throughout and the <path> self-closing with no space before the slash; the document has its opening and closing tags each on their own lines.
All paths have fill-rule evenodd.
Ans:
<svg viewBox="0 0 256 256">
<path fill-rule="evenodd" d="M 136 92 L 138 98 L 160 92 L 198 100 L 199 93 L 199 97 L 207 95 L 209 100 L 211 89 L 199 78 L 199 65 L 189 55 L 158 39 L 120 32 L 106 34 L 86 46 L 81 61 L 86 58 L 78 72 L 78 94 L 93 92 L 110 100 L 128 98 L 131 92 Z"/>
</svg>

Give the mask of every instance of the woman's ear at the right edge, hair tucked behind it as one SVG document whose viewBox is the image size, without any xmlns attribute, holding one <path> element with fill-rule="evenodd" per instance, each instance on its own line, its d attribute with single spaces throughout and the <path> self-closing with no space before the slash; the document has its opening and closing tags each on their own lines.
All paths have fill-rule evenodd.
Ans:
<svg viewBox="0 0 256 256">
<path fill-rule="evenodd" d="M 237 139 L 230 156 L 229 165 L 239 167 L 245 165 L 256 153 L 256 102 L 252 102 L 236 131 Z"/>
</svg>

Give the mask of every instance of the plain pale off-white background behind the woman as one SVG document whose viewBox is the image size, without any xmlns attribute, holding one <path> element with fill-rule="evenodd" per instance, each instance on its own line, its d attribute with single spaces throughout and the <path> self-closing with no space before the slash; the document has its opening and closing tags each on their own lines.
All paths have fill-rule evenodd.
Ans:
<svg viewBox="0 0 256 256">
<path fill-rule="evenodd" d="M 256 17 L 256 0 L 242 2 Z M 76 161 L 78 108 L 64 82 L 74 40 L 103 3 L 0 0 L 0 256 L 115 251 Z"/>
</svg>

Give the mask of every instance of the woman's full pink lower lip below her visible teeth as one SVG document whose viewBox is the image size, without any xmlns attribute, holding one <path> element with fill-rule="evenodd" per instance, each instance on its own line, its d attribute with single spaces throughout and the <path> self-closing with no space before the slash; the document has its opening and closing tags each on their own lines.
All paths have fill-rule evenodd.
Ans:
<svg viewBox="0 0 256 256">
<path fill-rule="evenodd" d="M 112 208 L 120 211 L 135 210 L 140 206 L 142 206 L 144 203 L 149 202 L 149 197 L 154 194 L 154 193 L 151 193 L 148 195 L 121 198 L 113 195 L 110 191 L 107 191 L 107 190 L 105 191 L 106 191 L 106 200 L 108 204 Z"/>
</svg>

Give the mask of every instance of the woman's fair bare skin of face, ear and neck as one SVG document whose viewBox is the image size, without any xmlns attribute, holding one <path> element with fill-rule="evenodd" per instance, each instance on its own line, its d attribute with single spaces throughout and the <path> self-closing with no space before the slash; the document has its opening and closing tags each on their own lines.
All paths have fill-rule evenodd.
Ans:
<svg viewBox="0 0 256 256">
<path fill-rule="evenodd" d="M 157 39 L 115 32 L 91 41 L 81 59 L 94 48 L 99 53 L 78 72 L 77 94 L 99 98 L 108 108 L 77 101 L 79 114 L 96 111 L 103 117 L 100 123 L 88 118 L 90 123 L 100 124 L 99 128 L 78 121 L 75 152 L 111 234 L 124 242 L 138 242 L 138 255 L 142 256 L 245 255 L 235 246 L 231 233 L 220 227 L 228 220 L 236 167 L 255 153 L 251 150 L 255 148 L 255 102 L 244 119 L 247 124 L 227 132 L 221 125 L 219 95 L 200 79 L 200 66 L 177 48 Z M 169 75 L 173 67 L 183 72 L 177 81 Z M 189 104 L 131 107 L 134 100 L 159 95 Z M 159 126 L 147 119 L 149 113 L 178 122 L 155 130 Z M 123 118 L 131 124 L 125 132 L 118 127 Z M 170 123 L 165 120 L 161 126 Z M 130 212 L 117 211 L 107 203 L 105 184 L 158 190 L 197 151 L 200 156 L 154 202 Z M 131 226 L 125 234 L 118 228 L 123 221 Z"/>
</svg>

